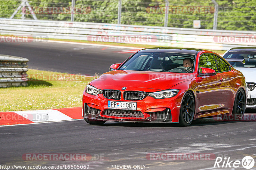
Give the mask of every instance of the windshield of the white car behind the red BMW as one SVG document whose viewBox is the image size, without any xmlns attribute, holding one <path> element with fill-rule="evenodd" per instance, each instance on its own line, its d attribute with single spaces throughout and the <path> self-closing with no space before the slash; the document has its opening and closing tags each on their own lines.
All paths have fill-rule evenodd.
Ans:
<svg viewBox="0 0 256 170">
<path fill-rule="evenodd" d="M 229 62 L 233 67 L 256 67 L 256 51 L 228 52 L 223 56 L 223 58 L 245 59 L 245 64 L 240 62 Z"/>
</svg>

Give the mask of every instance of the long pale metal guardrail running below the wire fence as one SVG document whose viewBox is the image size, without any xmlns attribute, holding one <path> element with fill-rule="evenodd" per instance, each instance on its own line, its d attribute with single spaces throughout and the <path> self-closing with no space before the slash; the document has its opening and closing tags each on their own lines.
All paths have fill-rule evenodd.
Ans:
<svg viewBox="0 0 256 170">
<path fill-rule="evenodd" d="M 124 43 L 211 50 L 228 50 L 231 47 L 238 46 L 256 46 L 256 32 L 252 31 L 185 29 L 86 22 L 2 18 L 0 19 L 0 33 L 2 35 L 30 35 L 33 37 L 44 36 L 47 38 L 76 40 L 92 40 L 92 36 L 139 36 L 133 41 L 125 41 Z M 142 41 L 143 37 L 140 37 L 142 35 L 151 36 L 151 41 Z M 234 36 L 245 36 L 245 38 L 235 39 Z M 231 39 L 229 39 L 230 37 Z M 96 38 L 95 41 L 104 40 Z M 107 41 L 111 42 L 109 39 Z"/>
</svg>

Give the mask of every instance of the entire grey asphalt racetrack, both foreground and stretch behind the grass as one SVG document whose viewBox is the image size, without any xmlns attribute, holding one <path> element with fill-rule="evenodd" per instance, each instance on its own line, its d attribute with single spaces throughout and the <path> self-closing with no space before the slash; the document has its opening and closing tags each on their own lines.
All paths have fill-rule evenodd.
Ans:
<svg viewBox="0 0 256 170">
<path fill-rule="evenodd" d="M 108 71 L 110 64 L 122 62 L 131 54 L 114 53 L 122 50 L 120 48 L 59 43 L 1 43 L 0 48 L 2 54 L 28 58 L 30 68 L 83 74 Z M 252 110 L 247 112 L 255 114 Z M 189 127 L 119 122 L 90 125 L 84 120 L 75 120 L 2 126 L 0 144 L 0 165 L 89 165 L 89 169 L 99 170 L 116 169 L 114 165 L 131 165 L 131 169 L 142 165 L 150 170 L 244 169 L 241 165 L 213 168 L 215 157 L 241 161 L 245 156 L 252 156 L 256 160 L 256 126 L 255 121 L 213 118 L 196 120 Z M 92 159 L 24 160 L 22 155 L 26 153 L 87 153 Z M 166 160 L 166 157 L 151 160 L 156 157 L 148 158 L 149 153 L 210 153 L 215 157 L 212 160 Z"/>
</svg>

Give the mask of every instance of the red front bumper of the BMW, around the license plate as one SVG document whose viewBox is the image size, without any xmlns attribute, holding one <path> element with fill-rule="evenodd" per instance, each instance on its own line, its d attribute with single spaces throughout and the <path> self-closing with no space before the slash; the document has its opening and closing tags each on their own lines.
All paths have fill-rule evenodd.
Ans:
<svg viewBox="0 0 256 170">
<path fill-rule="evenodd" d="M 147 96 L 142 100 L 128 101 L 107 99 L 102 94 L 96 96 L 83 93 L 84 118 L 92 120 L 122 121 L 122 122 L 179 122 L 180 105 L 185 91 L 171 98 L 155 99 Z M 122 92 L 123 96 L 123 92 Z M 108 101 L 136 102 L 136 110 L 108 109 Z"/>
</svg>

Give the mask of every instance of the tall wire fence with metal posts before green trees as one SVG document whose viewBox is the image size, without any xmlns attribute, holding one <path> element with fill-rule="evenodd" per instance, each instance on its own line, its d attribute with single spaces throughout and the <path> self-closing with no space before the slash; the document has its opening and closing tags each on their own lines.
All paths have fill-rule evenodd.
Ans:
<svg viewBox="0 0 256 170">
<path fill-rule="evenodd" d="M 256 31 L 256 2 L 0 0 L 0 18 Z M 194 21 L 200 20 L 200 23 Z"/>
</svg>

